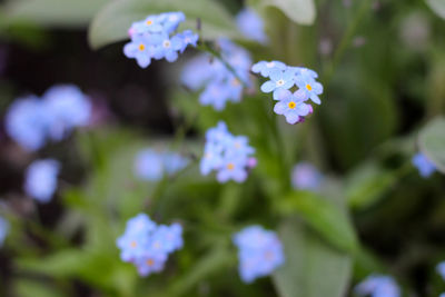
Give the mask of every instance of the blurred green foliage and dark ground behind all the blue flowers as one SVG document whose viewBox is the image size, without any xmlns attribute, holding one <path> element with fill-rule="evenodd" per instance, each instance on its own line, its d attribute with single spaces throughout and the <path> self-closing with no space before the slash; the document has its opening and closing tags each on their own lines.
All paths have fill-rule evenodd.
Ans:
<svg viewBox="0 0 445 297">
<path fill-rule="evenodd" d="M 445 259 L 445 178 L 423 178 L 412 165 L 424 149 L 418 136 L 445 111 L 444 1 L 309 1 L 314 21 L 260 0 L 215 1 L 234 22 L 244 7 L 258 9 L 269 42 L 234 37 L 254 62 L 280 60 L 320 76 L 323 103 L 306 122 L 274 118 L 281 147 L 265 126 L 270 96 L 258 88 L 218 112 L 181 85 L 196 49 L 147 69 L 123 56 L 123 40 L 93 49 L 91 22 L 111 2 L 0 1 L 0 214 L 10 225 L 0 249 L 0 296 L 355 296 L 353 287 L 373 273 L 397 279 L 402 296 L 445 291 L 435 270 Z M 130 9 L 140 8 L 131 7 L 136 2 Z M 150 14 L 151 2 L 129 14 L 135 21 Z M 181 10 L 167 2 L 167 11 Z M 204 17 L 204 30 L 206 23 Z M 225 31 L 205 38 L 218 36 Z M 7 132 L 8 109 L 17 98 L 40 97 L 59 83 L 73 83 L 89 97 L 89 122 L 27 151 Z M 204 132 L 219 119 L 257 150 L 258 167 L 245 184 L 220 185 L 199 174 Z M 442 148 L 443 127 L 436 128 Z M 179 151 L 190 165 L 174 179 L 138 180 L 134 158 L 147 147 Z M 46 158 L 61 168 L 58 190 L 40 204 L 23 182 L 28 166 Z M 322 198 L 314 199 L 335 211 L 318 214 L 318 202 L 271 210 L 289 191 L 313 195 L 291 189 L 299 161 L 323 174 Z M 148 278 L 120 261 L 115 246 L 138 212 L 185 226 L 186 247 Z M 230 234 L 248 224 L 281 235 L 286 226 L 295 228 L 299 244 L 285 244 L 285 250 L 305 265 L 294 266 L 287 283 L 279 275 L 253 285 L 239 280 Z"/>
</svg>

